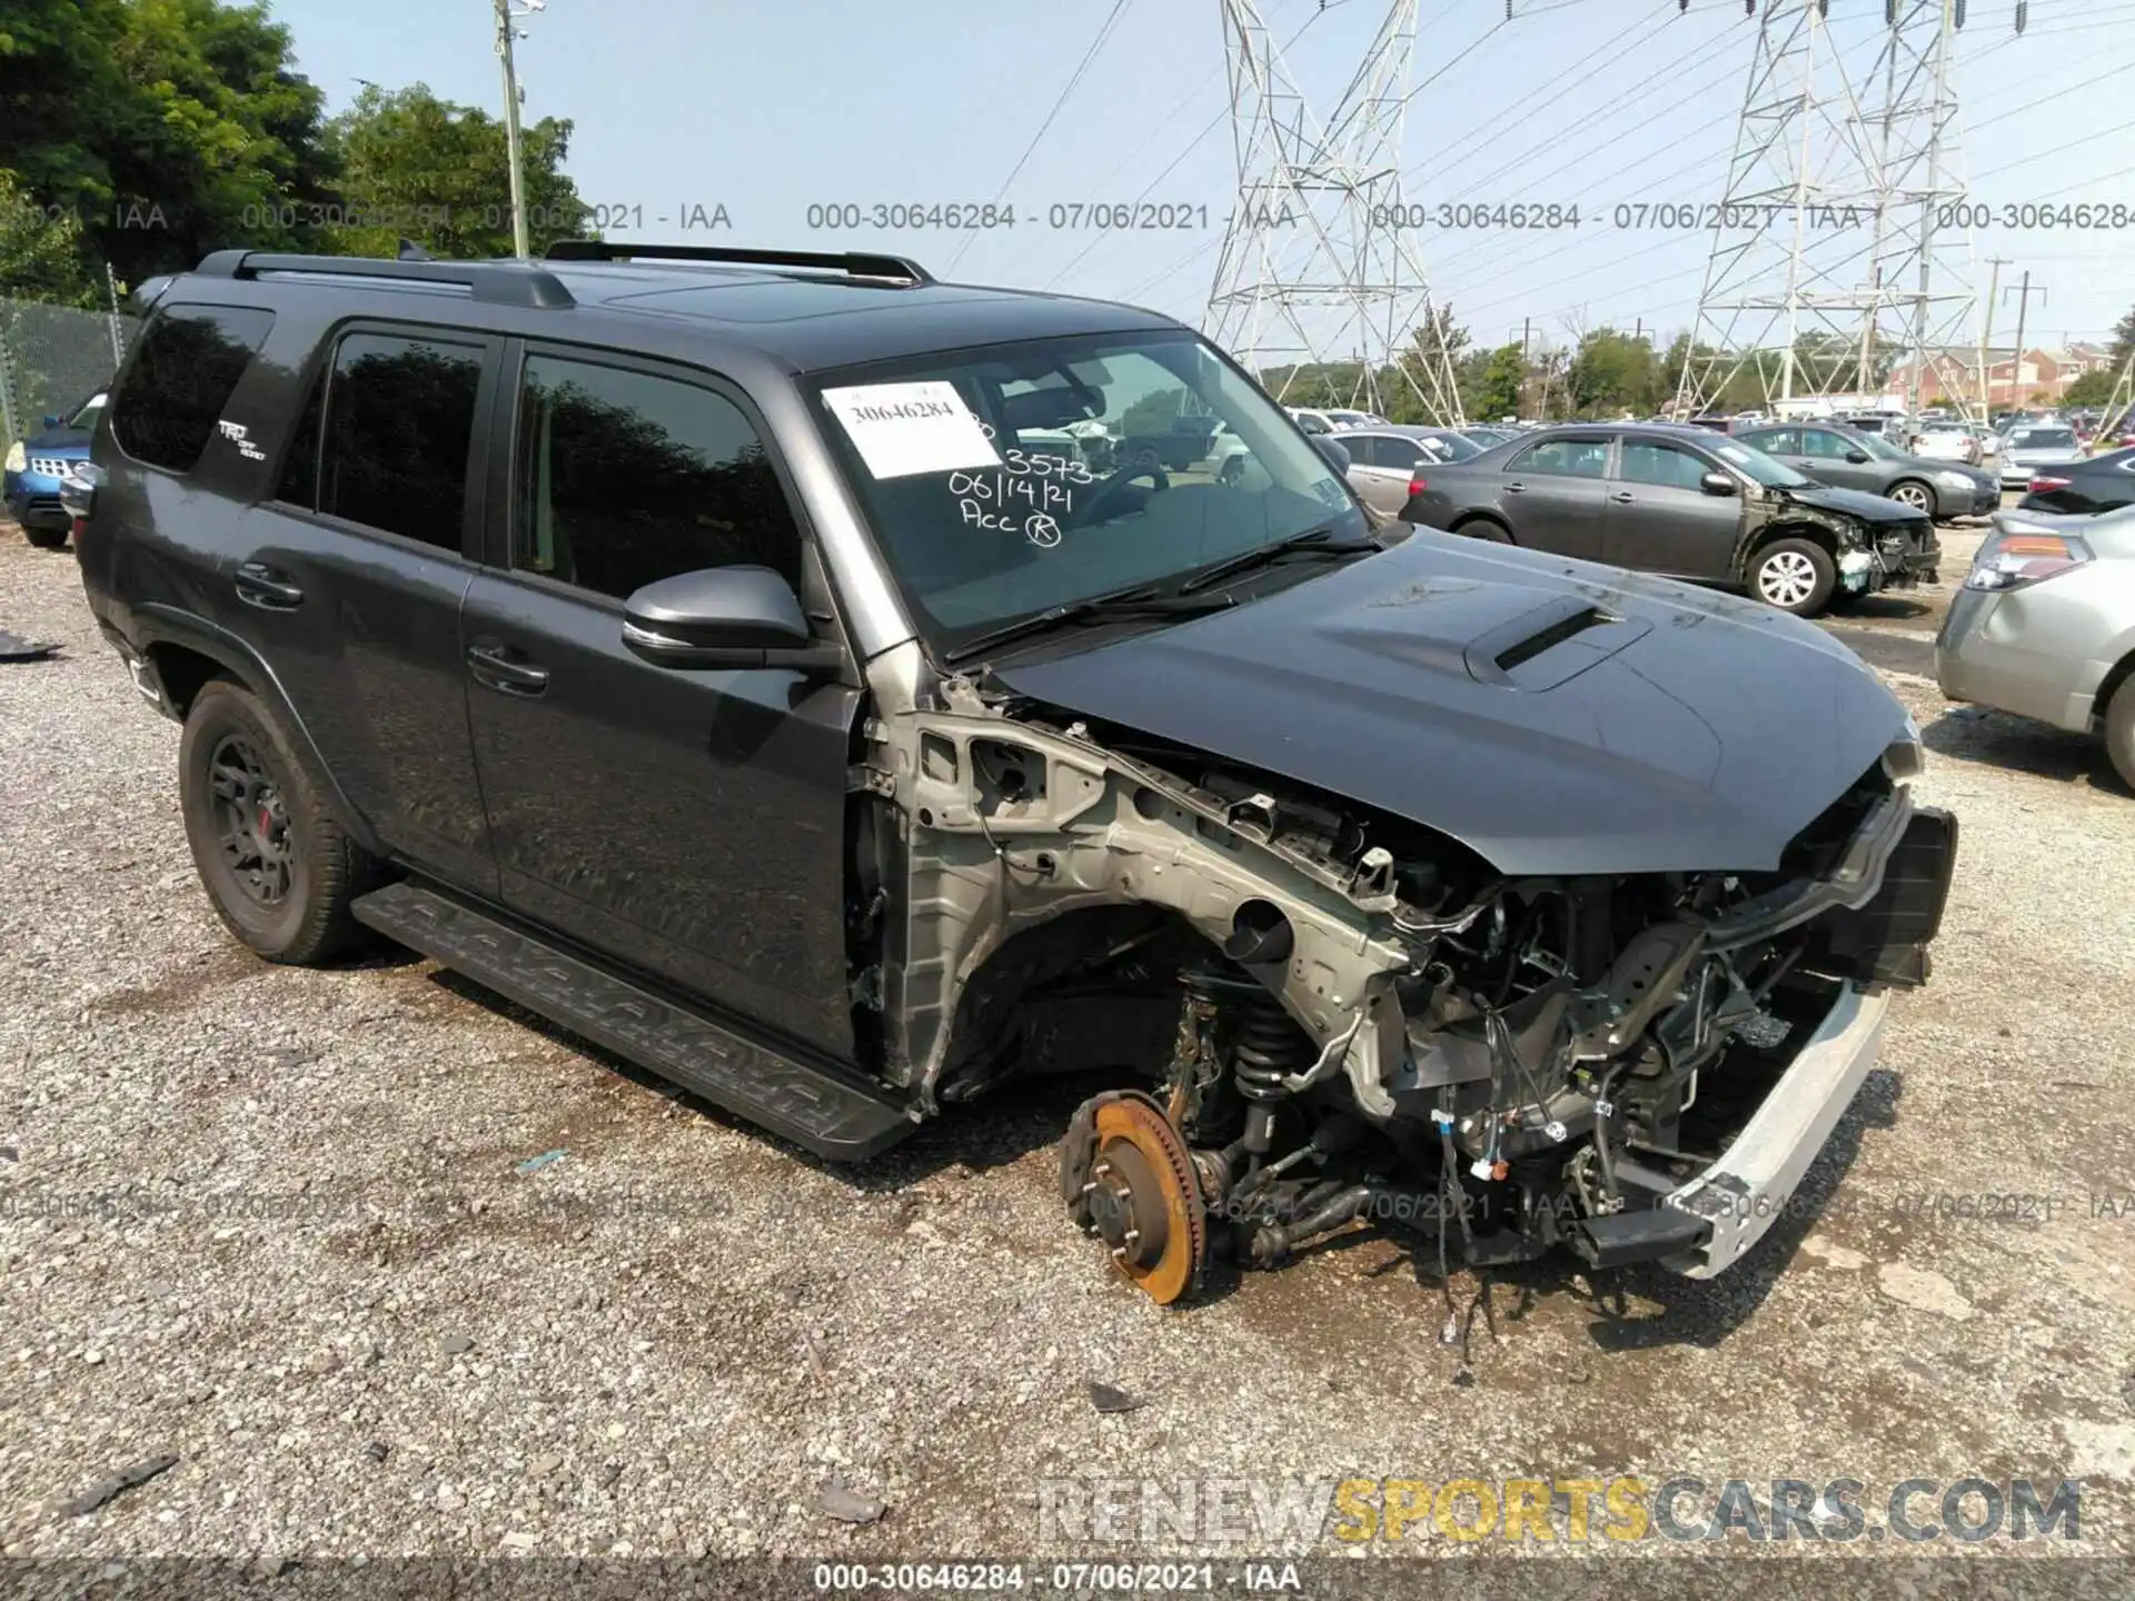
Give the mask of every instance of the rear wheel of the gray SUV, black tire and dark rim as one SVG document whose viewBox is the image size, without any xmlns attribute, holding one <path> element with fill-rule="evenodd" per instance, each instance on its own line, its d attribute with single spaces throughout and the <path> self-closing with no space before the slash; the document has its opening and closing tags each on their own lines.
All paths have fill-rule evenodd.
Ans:
<svg viewBox="0 0 2135 1601">
<path fill-rule="evenodd" d="M 194 696 L 177 796 L 207 899 L 246 946 L 312 967 L 365 939 L 348 905 L 378 882 L 378 860 L 333 818 L 250 689 L 213 679 Z"/>
</svg>

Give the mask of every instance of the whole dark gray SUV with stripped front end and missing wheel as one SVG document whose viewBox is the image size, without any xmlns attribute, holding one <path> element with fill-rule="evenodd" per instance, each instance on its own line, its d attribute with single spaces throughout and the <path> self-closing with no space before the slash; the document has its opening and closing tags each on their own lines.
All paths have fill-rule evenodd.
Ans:
<svg viewBox="0 0 2135 1601">
<path fill-rule="evenodd" d="M 1956 822 L 1860 657 L 1381 542 L 1170 318 L 600 241 L 147 310 L 81 576 L 235 939 L 833 1159 L 1080 1074 L 1061 1206 L 1157 1302 L 1366 1219 L 1723 1272 L 1928 980 Z M 1082 455 L 1172 416 L 1238 465 Z"/>
</svg>

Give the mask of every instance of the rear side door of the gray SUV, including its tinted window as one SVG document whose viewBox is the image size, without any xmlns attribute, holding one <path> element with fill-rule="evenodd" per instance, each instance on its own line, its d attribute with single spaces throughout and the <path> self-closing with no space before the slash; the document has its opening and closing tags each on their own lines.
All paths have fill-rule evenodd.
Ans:
<svg viewBox="0 0 2135 1601">
<path fill-rule="evenodd" d="M 480 894 L 495 894 L 495 862 L 459 602 L 480 525 L 476 418 L 500 356 L 483 333 L 342 324 L 314 356 L 271 495 L 205 587 L 386 850 Z"/>
</svg>

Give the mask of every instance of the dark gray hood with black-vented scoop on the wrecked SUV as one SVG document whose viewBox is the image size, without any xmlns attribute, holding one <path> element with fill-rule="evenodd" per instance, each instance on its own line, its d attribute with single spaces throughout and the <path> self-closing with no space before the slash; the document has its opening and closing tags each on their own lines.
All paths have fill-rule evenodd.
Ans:
<svg viewBox="0 0 2135 1601">
<path fill-rule="evenodd" d="M 1810 623 L 1428 529 L 995 677 L 1409 818 L 1516 875 L 1776 869 L 1904 736 L 1889 692 Z"/>
</svg>

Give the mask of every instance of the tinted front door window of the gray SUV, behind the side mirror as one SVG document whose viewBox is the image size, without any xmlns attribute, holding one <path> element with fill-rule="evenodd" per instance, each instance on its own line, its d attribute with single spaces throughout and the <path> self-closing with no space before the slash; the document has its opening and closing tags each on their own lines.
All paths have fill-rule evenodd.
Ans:
<svg viewBox="0 0 2135 1601">
<path fill-rule="evenodd" d="M 749 418 L 700 384 L 527 356 L 512 566 L 617 600 L 698 568 L 801 583 L 801 532 Z"/>
</svg>

